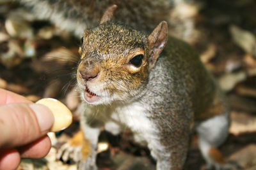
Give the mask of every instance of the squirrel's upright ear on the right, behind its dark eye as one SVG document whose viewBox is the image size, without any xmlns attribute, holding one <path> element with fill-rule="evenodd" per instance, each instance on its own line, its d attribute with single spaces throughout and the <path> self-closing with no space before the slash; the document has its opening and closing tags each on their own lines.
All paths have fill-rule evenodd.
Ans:
<svg viewBox="0 0 256 170">
<path fill-rule="evenodd" d="M 147 38 L 149 55 L 148 55 L 148 67 L 152 69 L 155 66 L 155 62 L 159 57 L 159 54 L 164 49 L 168 38 L 168 25 L 167 22 L 162 21 L 152 31 Z"/>
</svg>

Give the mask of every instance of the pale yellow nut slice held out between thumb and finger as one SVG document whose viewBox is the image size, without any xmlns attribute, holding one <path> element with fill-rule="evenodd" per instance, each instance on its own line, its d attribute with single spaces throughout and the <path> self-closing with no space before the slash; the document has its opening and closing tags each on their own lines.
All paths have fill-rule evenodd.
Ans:
<svg viewBox="0 0 256 170">
<path fill-rule="evenodd" d="M 51 127 L 52 132 L 58 132 L 67 128 L 72 123 L 72 113 L 67 106 L 56 99 L 44 98 L 36 102 L 47 106 L 52 111 L 54 123 Z"/>
</svg>

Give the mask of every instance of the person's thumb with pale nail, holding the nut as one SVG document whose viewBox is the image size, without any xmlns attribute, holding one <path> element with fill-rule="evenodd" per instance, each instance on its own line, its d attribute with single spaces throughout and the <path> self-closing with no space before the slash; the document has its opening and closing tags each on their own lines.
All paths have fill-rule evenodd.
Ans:
<svg viewBox="0 0 256 170">
<path fill-rule="evenodd" d="M 22 146 L 49 131 L 54 122 L 51 111 L 41 104 L 0 106 L 0 147 Z"/>
</svg>

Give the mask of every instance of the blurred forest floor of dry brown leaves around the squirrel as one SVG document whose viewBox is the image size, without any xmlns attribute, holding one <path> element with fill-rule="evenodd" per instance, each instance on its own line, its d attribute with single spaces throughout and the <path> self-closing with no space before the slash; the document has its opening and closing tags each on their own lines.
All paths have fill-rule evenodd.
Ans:
<svg viewBox="0 0 256 170">
<path fill-rule="evenodd" d="M 256 2 L 200 4 L 195 17 L 198 37 L 191 45 L 220 81 L 231 106 L 230 134 L 220 150 L 241 169 L 256 169 Z M 51 153 L 44 159 L 22 160 L 20 169 L 76 169 L 72 159 L 56 160 L 56 152 L 79 131 L 79 99 L 74 91 L 79 44 L 79 39 L 36 20 L 19 5 L 0 2 L 0 88 L 31 101 L 60 99 L 74 113 L 68 129 L 49 134 L 54 141 Z M 134 143 L 129 131 L 120 136 L 104 132 L 100 144 L 97 165 L 101 170 L 155 169 L 147 148 Z M 193 135 L 185 169 L 205 169 L 197 145 Z"/>
</svg>

